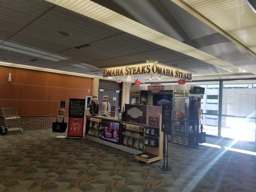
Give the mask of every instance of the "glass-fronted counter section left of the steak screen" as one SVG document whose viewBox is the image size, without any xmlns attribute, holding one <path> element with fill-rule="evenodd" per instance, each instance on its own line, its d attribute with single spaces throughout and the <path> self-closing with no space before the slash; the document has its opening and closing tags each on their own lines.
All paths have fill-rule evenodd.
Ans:
<svg viewBox="0 0 256 192">
<path fill-rule="evenodd" d="M 102 130 L 102 119 L 86 118 L 86 129 L 85 134 L 92 137 L 99 138 Z"/>
</svg>

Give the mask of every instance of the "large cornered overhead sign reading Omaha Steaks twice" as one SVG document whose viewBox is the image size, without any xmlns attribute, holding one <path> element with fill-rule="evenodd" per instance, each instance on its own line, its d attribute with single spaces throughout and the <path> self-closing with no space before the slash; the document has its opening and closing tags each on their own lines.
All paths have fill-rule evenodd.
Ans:
<svg viewBox="0 0 256 192">
<path fill-rule="evenodd" d="M 103 70 L 103 77 L 111 76 L 130 76 L 130 75 L 161 75 L 179 79 L 192 80 L 192 74 L 184 71 L 168 67 L 161 64 L 145 63 L 134 64 L 129 66 L 111 67 Z"/>
</svg>

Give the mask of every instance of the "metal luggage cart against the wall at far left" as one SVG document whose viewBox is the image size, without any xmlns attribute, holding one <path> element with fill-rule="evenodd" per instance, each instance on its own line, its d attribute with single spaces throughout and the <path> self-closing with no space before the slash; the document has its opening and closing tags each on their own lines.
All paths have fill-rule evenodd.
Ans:
<svg viewBox="0 0 256 192">
<path fill-rule="evenodd" d="M 5 135 L 8 131 L 18 131 L 23 134 L 23 130 L 20 129 L 20 117 L 17 115 L 15 108 L 0 108 L 3 116 L 4 126 L 0 127 L 0 134 Z"/>
</svg>

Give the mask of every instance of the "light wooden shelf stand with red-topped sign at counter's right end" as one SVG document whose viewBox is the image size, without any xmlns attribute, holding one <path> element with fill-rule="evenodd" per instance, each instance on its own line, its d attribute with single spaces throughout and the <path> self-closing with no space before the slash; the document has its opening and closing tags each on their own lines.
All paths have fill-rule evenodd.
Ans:
<svg viewBox="0 0 256 192">
<path fill-rule="evenodd" d="M 144 145 L 145 152 L 134 155 L 137 161 L 143 161 L 147 165 L 151 162 L 163 159 L 163 132 L 161 131 L 162 115 L 160 114 L 148 114 L 148 126 L 158 128 L 158 136 L 152 136 L 145 134 L 144 128 L 144 140 L 145 137 L 156 138 L 158 140 L 158 147 L 151 147 L 150 145 Z"/>
</svg>

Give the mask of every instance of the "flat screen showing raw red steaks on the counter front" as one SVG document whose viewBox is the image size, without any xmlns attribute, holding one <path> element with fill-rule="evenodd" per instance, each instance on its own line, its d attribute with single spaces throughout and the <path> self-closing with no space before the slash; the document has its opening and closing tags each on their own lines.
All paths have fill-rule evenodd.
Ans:
<svg viewBox="0 0 256 192">
<path fill-rule="evenodd" d="M 120 124 L 118 122 L 102 120 L 101 139 L 119 144 L 119 128 Z"/>
</svg>

